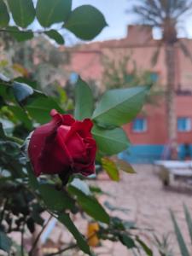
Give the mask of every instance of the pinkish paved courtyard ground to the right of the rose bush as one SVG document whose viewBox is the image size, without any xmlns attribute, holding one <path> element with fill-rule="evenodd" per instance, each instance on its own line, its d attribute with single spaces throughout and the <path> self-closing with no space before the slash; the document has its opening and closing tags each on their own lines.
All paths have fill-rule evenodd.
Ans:
<svg viewBox="0 0 192 256">
<path fill-rule="evenodd" d="M 119 183 L 113 183 L 108 178 L 100 177 L 99 186 L 103 191 L 110 193 L 113 197 L 102 195 L 102 202 L 109 201 L 116 207 L 125 207 L 130 211 L 127 213 L 113 212 L 113 215 L 136 221 L 140 228 L 154 230 L 155 234 L 162 238 L 163 235 L 170 234 L 170 243 L 174 256 L 179 256 L 176 239 L 173 233 L 172 220 L 169 209 L 175 213 L 177 222 L 183 232 L 183 236 L 189 243 L 188 229 L 183 213 L 183 203 L 189 207 L 192 215 L 192 187 L 186 183 L 172 183 L 170 189 L 162 186 L 160 178 L 157 176 L 157 169 L 153 166 L 137 165 L 134 166 L 137 174 L 121 173 Z M 152 242 L 152 232 L 141 231 L 141 235 L 156 252 Z M 99 255 L 129 256 L 132 255 L 125 247 L 119 243 L 104 242 L 103 248 L 96 249 Z M 192 250 L 189 247 L 192 255 Z"/>
</svg>

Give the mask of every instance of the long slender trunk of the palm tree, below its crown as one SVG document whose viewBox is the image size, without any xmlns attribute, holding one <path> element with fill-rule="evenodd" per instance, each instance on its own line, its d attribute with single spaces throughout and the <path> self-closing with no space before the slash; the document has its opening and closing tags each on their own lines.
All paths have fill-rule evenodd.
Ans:
<svg viewBox="0 0 192 256">
<path fill-rule="evenodd" d="M 177 159 L 177 113 L 175 93 L 175 45 L 166 44 L 166 116 L 171 159 Z"/>
</svg>

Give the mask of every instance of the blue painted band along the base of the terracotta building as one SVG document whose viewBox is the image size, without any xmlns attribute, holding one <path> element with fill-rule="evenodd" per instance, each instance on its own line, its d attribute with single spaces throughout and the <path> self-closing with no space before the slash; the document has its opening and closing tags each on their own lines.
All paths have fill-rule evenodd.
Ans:
<svg viewBox="0 0 192 256">
<path fill-rule="evenodd" d="M 132 164 L 149 164 L 154 160 L 162 160 L 165 148 L 165 145 L 135 145 L 120 153 L 119 158 Z M 192 157 L 192 145 L 190 145 L 190 154 Z M 184 155 L 184 147 L 179 145 L 178 159 L 183 160 Z M 169 159 L 169 154 L 166 154 L 166 159 Z"/>
</svg>

